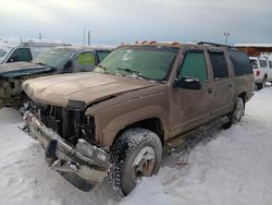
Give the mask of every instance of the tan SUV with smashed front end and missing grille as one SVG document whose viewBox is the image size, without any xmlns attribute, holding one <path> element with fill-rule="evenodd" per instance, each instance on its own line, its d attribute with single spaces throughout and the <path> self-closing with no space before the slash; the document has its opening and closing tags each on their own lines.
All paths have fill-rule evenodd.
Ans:
<svg viewBox="0 0 272 205">
<path fill-rule="evenodd" d="M 23 130 L 74 185 L 88 190 L 108 174 L 127 195 L 159 171 L 163 150 L 240 121 L 254 80 L 248 57 L 232 47 L 123 45 L 94 72 L 26 81 Z"/>
</svg>

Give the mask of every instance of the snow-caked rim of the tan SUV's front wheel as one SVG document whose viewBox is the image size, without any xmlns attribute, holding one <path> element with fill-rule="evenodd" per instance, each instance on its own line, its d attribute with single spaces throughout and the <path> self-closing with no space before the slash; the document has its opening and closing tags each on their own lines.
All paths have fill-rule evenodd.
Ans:
<svg viewBox="0 0 272 205">
<path fill-rule="evenodd" d="M 154 167 L 154 149 L 150 146 L 146 146 L 140 149 L 133 161 L 133 180 L 137 181 L 137 177 L 148 177 L 152 174 Z"/>
</svg>

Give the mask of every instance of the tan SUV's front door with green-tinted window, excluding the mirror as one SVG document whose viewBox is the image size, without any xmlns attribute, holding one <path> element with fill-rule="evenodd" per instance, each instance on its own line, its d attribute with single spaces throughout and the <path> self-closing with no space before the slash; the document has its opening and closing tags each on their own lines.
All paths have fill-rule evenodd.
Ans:
<svg viewBox="0 0 272 205">
<path fill-rule="evenodd" d="M 211 85 L 203 50 L 187 50 L 181 62 L 177 80 L 194 77 L 201 89 L 172 87 L 170 91 L 171 137 L 189 131 L 210 119 Z"/>
</svg>

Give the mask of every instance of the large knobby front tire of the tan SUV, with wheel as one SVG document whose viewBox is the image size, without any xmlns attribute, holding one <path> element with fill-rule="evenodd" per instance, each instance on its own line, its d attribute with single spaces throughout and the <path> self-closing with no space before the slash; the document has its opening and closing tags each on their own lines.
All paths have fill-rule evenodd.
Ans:
<svg viewBox="0 0 272 205">
<path fill-rule="evenodd" d="M 109 180 L 119 193 L 127 195 L 139 177 L 149 177 L 159 171 L 161 159 L 162 145 L 156 133 L 141 128 L 129 129 L 111 147 Z M 138 170 L 141 168 L 141 171 Z"/>
</svg>

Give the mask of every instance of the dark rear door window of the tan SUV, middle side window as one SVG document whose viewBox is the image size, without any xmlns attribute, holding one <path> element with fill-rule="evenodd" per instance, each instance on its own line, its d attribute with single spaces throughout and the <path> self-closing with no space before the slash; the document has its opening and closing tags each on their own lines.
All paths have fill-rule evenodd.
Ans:
<svg viewBox="0 0 272 205">
<path fill-rule="evenodd" d="M 209 51 L 209 55 L 211 59 L 213 79 L 217 80 L 227 77 L 228 72 L 224 53 Z"/>
</svg>

